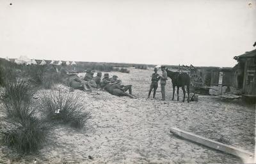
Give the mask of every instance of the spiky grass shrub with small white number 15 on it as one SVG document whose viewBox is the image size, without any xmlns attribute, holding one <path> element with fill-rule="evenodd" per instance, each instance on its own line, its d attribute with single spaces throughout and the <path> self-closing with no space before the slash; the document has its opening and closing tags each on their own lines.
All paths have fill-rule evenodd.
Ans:
<svg viewBox="0 0 256 164">
<path fill-rule="evenodd" d="M 42 107 L 47 120 L 70 124 L 75 128 L 82 128 L 90 119 L 90 112 L 83 112 L 84 104 L 81 103 L 81 98 L 73 93 L 44 93 Z"/>
</svg>

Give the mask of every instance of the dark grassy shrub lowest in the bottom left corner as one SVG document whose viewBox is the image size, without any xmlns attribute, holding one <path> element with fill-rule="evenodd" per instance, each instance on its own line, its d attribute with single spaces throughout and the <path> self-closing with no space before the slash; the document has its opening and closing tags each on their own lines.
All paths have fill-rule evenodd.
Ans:
<svg viewBox="0 0 256 164">
<path fill-rule="evenodd" d="M 30 153 L 40 148 L 48 132 L 36 117 L 28 117 L 13 119 L 1 133 L 5 144 L 17 148 L 20 153 Z"/>
</svg>

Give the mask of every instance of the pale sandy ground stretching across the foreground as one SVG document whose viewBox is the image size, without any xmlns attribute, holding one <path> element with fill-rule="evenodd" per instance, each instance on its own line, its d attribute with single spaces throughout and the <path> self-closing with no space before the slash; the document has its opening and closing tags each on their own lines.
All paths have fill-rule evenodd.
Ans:
<svg viewBox="0 0 256 164">
<path fill-rule="evenodd" d="M 83 130 L 56 126 L 39 153 L 26 157 L 1 145 L 0 161 L 32 163 L 36 158 L 38 163 L 243 162 L 236 156 L 178 138 L 170 133 L 171 127 L 254 152 L 255 107 L 211 96 L 199 96 L 198 102 L 191 103 L 172 101 L 170 79 L 166 101 L 160 100 L 160 87 L 156 100 L 147 99 L 151 74 L 152 70 L 132 68 L 129 74 L 110 73 L 118 75 L 124 84 L 132 84 L 138 99 L 116 97 L 104 91 L 74 91 L 83 97 L 85 110 L 92 113 Z"/>
</svg>

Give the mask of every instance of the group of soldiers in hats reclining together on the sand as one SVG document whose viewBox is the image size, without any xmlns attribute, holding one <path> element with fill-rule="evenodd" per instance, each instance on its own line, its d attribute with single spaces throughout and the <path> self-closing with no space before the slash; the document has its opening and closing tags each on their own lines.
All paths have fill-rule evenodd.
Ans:
<svg viewBox="0 0 256 164">
<path fill-rule="evenodd" d="M 68 78 L 69 86 L 74 89 L 90 92 L 92 92 L 92 88 L 103 89 L 116 96 L 136 98 L 132 95 L 132 85 L 123 85 L 122 80 L 118 80 L 116 75 L 110 78 L 109 73 L 104 73 L 104 77 L 102 78 L 102 72 L 97 72 L 97 76 L 93 77 L 94 73 L 90 70 L 86 71 L 84 78 L 79 78 L 77 72 L 67 74 L 70 75 Z M 129 93 L 126 91 L 129 91 Z"/>
</svg>

